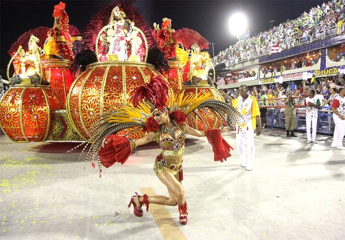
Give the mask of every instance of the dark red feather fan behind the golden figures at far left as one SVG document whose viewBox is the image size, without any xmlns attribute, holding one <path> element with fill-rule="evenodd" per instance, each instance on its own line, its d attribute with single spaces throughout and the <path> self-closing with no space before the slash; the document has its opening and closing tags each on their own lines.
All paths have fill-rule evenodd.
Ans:
<svg viewBox="0 0 345 240">
<path fill-rule="evenodd" d="M 25 51 L 29 50 L 28 43 L 31 35 L 35 35 L 38 37 L 39 42 L 37 45 L 39 47 L 43 47 L 44 41 L 47 38 L 49 28 L 47 27 L 38 27 L 32 30 L 29 30 L 28 32 L 25 32 L 21 36 L 18 37 L 17 41 L 15 41 L 11 47 L 8 50 L 8 54 L 11 55 L 13 52 L 16 52 L 18 50 L 18 47 L 21 45 Z"/>
</svg>

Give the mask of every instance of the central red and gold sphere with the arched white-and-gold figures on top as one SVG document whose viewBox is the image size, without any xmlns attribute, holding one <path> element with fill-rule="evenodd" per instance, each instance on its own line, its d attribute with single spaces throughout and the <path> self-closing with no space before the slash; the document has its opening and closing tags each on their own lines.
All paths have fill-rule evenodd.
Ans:
<svg viewBox="0 0 345 240">
<path fill-rule="evenodd" d="M 112 9 L 108 19 L 95 41 L 91 41 L 97 62 L 89 64 L 73 82 L 67 100 L 69 120 L 85 140 L 90 138 L 93 124 L 101 115 L 130 104 L 130 93 L 136 87 L 161 74 L 146 63 L 149 44 L 136 23 L 119 6 Z M 143 135 L 137 131 L 131 137 Z"/>
</svg>

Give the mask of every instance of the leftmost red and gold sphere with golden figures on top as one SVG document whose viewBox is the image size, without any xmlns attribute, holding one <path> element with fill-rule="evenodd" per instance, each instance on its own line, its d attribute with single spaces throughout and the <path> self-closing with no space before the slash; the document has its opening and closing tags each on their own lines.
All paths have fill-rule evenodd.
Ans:
<svg viewBox="0 0 345 240">
<path fill-rule="evenodd" d="M 44 78 L 38 42 L 39 39 L 31 35 L 28 51 L 19 46 L 12 56 L 9 66 L 17 58 L 19 66 L 15 71 L 19 74 L 10 78 L 12 85 L 0 101 L 1 129 L 15 142 L 45 141 L 52 111 L 63 108 L 58 94 Z"/>
</svg>

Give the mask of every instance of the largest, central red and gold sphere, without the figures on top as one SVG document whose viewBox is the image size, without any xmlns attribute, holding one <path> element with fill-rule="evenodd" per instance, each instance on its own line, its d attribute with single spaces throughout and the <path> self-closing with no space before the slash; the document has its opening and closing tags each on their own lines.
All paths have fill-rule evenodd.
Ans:
<svg viewBox="0 0 345 240">
<path fill-rule="evenodd" d="M 101 115 L 130 104 L 130 94 L 160 74 L 152 65 L 133 62 L 98 62 L 90 64 L 73 82 L 67 98 L 69 121 L 84 139 L 89 139 L 92 125 Z M 137 131 L 132 138 L 142 137 Z"/>
</svg>

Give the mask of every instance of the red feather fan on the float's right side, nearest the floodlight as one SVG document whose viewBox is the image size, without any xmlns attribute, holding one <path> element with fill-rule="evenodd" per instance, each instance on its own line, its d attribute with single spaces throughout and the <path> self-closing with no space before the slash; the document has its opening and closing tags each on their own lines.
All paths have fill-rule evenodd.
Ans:
<svg viewBox="0 0 345 240">
<path fill-rule="evenodd" d="M 177 43 L 182 44 L 187 50 L 193 45 L 193 43 L 198 44 L 200 51 L 203 49 L 208 49 L 208 41 L 205 37 L 199 34 L 197 31 L 188 28 L 182 28 L 176 30 L 175 32 Z"/>
</svg>

